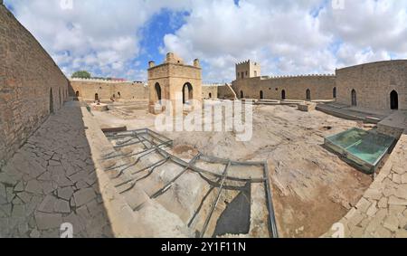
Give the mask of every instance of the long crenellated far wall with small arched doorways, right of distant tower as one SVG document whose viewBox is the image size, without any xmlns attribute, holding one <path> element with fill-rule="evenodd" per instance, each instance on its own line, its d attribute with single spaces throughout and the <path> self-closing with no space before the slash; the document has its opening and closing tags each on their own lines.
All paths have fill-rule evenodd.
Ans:
<svg viewBox="0 0 407 256">
<path fill-rule="evenodd" d="M 336 80 L 334 75 L 308 75 L 293 77 L 257 77 L 232 82 L 232 88 L 238 98 L 282 100 L 333 100 Z"/>
</svg>

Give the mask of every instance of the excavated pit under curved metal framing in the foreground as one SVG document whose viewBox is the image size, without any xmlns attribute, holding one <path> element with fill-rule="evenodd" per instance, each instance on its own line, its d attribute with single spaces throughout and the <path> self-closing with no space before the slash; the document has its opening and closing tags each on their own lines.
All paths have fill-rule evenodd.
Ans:
<svg viewBox="0 0 407 256">
<path fill-rule="evenodd" d="M 267 164 L 177 156 L 172 140 L 148 129 L 106 136 L 116 153 L 103 159 L 105 171 L 135 212 L 166 223 L 157 236 L 278 236 Z"/>
</svg>

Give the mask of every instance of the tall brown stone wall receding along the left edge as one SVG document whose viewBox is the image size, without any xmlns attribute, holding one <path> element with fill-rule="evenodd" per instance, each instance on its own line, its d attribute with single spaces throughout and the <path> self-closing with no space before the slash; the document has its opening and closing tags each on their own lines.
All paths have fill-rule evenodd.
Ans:
<svg viewBox="0 0 407 256">
<path fill-rule="evenodd" d="M 68 80 L 33 35 L 0 5 L 0 166 L 68 97 Z"/>
</svg>

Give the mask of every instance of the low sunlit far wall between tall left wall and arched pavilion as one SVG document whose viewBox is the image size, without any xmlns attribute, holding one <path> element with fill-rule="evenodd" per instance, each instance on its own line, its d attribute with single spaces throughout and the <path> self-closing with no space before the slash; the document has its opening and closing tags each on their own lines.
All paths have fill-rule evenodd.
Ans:
<svg viewBox="0 0 407 256">
<path fill-rule="evenodd" d="M 144 83 L 131 81 L 103 81 L 71 79 L 71 96 L 79 95 L 82 100 L 95 100 L 98 94 L 100 101 L 147 100 L 148 87 Z"/>
</svg>

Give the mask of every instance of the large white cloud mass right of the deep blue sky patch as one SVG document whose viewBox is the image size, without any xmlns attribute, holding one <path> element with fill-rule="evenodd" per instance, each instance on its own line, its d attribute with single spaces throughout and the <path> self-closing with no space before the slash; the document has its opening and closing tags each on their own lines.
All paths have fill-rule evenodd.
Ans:
<svg viewBox="0 0 407 256">
<path fill-rule="evenodd" d="M 234 62 L 262 73 L 334 72 L 336 67 L 405 57 L 407 1 L 197 1 L 186 24 L 167 34 L 165 51 L 209 63 L 206 79 L 233 79 Z M 163 50 L 164 52 L 164 50 Z"/>
</svg>

